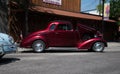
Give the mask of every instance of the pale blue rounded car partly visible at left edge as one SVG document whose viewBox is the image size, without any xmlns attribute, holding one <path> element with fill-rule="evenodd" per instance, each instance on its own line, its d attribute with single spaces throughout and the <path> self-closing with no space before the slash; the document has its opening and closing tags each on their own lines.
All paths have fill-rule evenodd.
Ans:
<svg viewBox="0 0 120 74">
<path fill-rule="evenodd" d="M 0 58 L 5 54 L 15 52 L 17 49 L 16 44 L 11 36 L 5 33 L 0 33 Z"/>
</svg>

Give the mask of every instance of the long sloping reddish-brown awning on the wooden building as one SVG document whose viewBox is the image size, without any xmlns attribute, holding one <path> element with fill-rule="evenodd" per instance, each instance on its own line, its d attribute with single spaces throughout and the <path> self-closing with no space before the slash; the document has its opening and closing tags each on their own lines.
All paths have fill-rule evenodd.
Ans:
<svg viewBox="0 0 120 74">
<path fill-rule="evenodd" d="M 102 20 L 102 17 L 101 16 L 97 16 L 97 15 L 90 15 L 90 14 L 69 12 L 69 11 L 51 9 L 51 8 L 46 8 L 46 7 L 41 7 L 41 6 L 33 6 L 31 8 L 31 10 L 38 11 L 38 12 L 43 12 L 43 13 L 50 13 L 50 14 L 62 15 L 62 16 L 82 18 L 82 19 Z M 115 22 L 114 20 L 105 20 L 105 21 Z"/>
</svg>

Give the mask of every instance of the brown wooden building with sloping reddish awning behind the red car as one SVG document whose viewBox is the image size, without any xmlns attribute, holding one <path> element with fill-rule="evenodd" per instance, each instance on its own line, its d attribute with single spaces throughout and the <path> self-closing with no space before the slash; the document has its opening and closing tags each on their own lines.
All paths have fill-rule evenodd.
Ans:
<svg viewBox="0 0 120 74">
<path fill-rule="evenodd" d="M 14 38 L 19 40 L 19 36 L 26 36 L 29 33 L 43 29 L 47 23 L 53 20 L 68 20 L 73 23 L 81 23 L 93 27 L 104 34 L 107 41 L 115 39 L 115 33 L 118 26 L 114 20 L 104 21 L 102 25 L 102 17 L 97 15 L 85 14 L 80 12 L 80 0 L 29 0 L 30 6 L 26 12 L 19 9 L 12 9 L 15 13 L 15 21 L 17 24 L 11 24 L 10 33 L 14 36 L 16 32 L 18 36 Z M 12 4 L 17 5 L 16 3 Z M 12 8 L 13 8 L 12 7 Z M 19 6 L 17 6 L 19 7 Z M 26 18 L 27 17 L 27 18 Z M 13 18 L 14 19 L 14 18 Z M 27 22 L 27 23 L 26 23 Z M 14 28 L 12 28 L 14 27 Z M 15 30 L 16 27 L 16 30 Z M 14 32 L 12 31 L 14 29 Z"/>
</svg>

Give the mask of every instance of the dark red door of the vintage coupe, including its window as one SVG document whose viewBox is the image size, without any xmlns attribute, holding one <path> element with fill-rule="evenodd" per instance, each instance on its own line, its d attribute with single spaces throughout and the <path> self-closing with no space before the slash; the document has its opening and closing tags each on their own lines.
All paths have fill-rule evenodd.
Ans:
<svg viewBox="0 0 120 74">
<path fill-rule="evenodd" d="M 59 24 L 55 31 L 56 46 L 74 46 L 75 33 L 71 24 Z"/>
</svg>

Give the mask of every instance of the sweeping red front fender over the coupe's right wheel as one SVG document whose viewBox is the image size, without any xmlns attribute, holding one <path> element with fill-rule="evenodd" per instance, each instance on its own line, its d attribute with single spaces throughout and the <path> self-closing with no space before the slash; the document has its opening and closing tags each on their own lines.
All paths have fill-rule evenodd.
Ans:
<svg viewBox="0 0 120 74">
<path fill-rule="evenodd" d="M 95 42 L 103 42 L 107 47 L 107 42 L 102 38 L 92 38 L 86 41 L 78 42 L 77 47 L 79 49 L 90 49 Z"/>
</svg>

